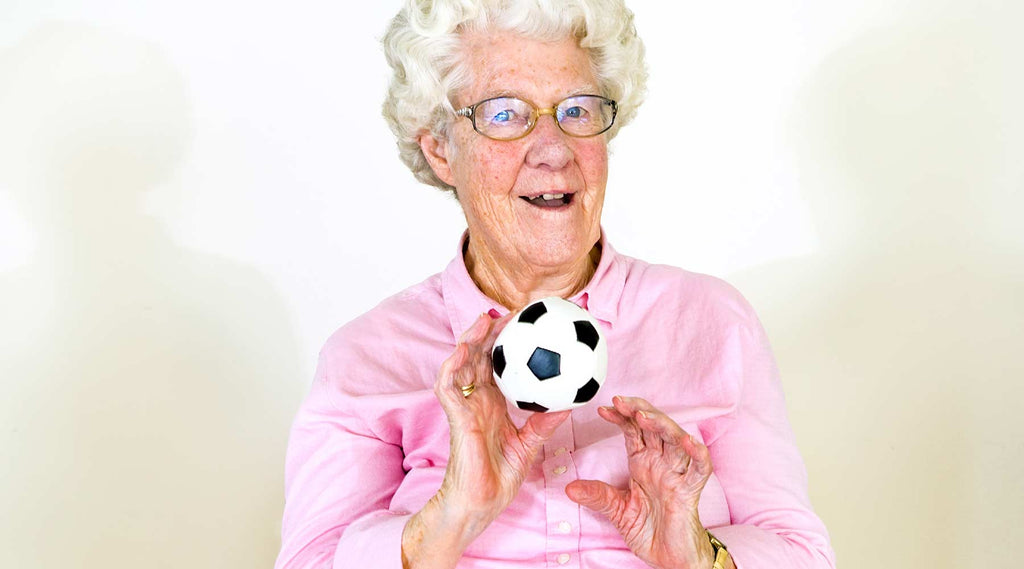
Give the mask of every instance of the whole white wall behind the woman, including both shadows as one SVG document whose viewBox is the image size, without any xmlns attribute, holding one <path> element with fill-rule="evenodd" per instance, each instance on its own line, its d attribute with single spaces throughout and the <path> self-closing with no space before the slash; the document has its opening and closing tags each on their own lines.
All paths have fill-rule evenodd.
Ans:
<svg viewBox="0 0 1024 569">
<path fill-rule="evenodd" d="M 611 242 L 759 309 L 842 565 L 1018 559 L 1022 3 L 631 6 Z M 464 227 L 380 117 L 396 9 L 0 4 L 0 565 L 272 562 L 319 345 Z"/>
</svg>

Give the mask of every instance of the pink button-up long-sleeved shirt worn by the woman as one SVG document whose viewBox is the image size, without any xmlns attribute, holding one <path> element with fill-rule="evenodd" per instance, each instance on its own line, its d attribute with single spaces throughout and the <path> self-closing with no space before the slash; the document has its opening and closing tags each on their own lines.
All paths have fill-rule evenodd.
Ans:
<svg viewBox="0 0 1024 569">
<path fill-rule="evenodd" d="M 622 432 L 597 415 L 616 394 L 647 399 L 708 445 L 714 474 L 700 521 L 740 569 L 835 567 L 768 342 L 742 297 L 604 242 L 593 279 L 570 300 L 603 325 L 607 379 L 544 446 L 459 567 L 647 567 L 607 521 L 565 495 L 575 479 L 626 486 Z M 434 379 L 456 339 L 490 310 L 508 312 L 473 283 L 460 248 L 444 272 L 328 340 L 292 429 L 279 569 L 401 568 L 402 529 L 439 488 L 449 457 Z M 518 425 L 527 417 L 509 412 Z"/>
</svg>

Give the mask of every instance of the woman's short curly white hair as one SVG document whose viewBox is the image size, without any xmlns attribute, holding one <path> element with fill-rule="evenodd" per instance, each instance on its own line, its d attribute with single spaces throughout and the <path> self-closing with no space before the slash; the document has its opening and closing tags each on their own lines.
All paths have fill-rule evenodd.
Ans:
<svg viewBox="0 0 1024 569">
<path fill-rule="evenodd" d="M 461 34 L 495 30 L 541 41 L 575 38 L 590 55 L 600 94 L 618 103 L 609 140 L 643 100 L 643 42 L 624 0 L 407 0 L 381 40 L 392 71 L 383 115 L 401 161 L 423 183 L 455 189 L 434 175 L 418 139 L 425 132 L 445 137 L 455 94 L 469 83 Z"/>
</svg>

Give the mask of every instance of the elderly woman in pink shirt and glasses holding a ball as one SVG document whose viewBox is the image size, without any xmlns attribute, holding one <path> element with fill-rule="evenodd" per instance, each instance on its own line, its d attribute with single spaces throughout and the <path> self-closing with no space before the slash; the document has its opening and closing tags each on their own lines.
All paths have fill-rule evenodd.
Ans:
<svg viewBox="0 0 1024 569">
<path fill-rule="evenodd" d="M 608 141 L 645 81 L 632 20 L 621 0 L 410 0 L 391 23 L 385 116 L 468 230 L 324 347 L 279 568 L 834 566 L 751 308 L 602 234 Z M 548 296 L 598 318 L 608 375 L 534 413 L 488 353 Z"/>
</svg>

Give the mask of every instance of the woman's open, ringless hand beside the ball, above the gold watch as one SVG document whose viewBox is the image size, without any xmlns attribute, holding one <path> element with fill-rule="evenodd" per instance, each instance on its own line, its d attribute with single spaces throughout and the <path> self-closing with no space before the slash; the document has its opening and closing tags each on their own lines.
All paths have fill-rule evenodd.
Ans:
<svg viewBox="0 0 1024 569">
<path fill-rule="evenodd" d="M 611 521 L 630 550 L 648 565 L 711 567 L 714 550 L 697 515 L 712 471 L 708 447 L 643 399 L 615 396 L 612 405 L 599 407 L 598 414 L 626 436 L 627 488 L 577 480 L 565 493 Z"/>
</svg>

